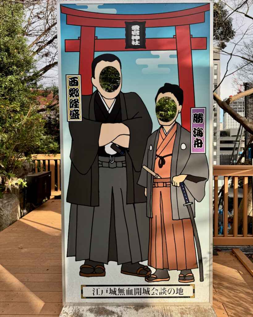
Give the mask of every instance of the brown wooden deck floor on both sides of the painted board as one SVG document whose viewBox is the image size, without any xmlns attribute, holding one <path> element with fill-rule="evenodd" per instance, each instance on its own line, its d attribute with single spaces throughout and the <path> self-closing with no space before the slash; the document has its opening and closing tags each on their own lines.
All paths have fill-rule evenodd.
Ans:
<svg viewBox="0 0 253 317">
<path fill-rule="evenodd" d="M 0 233 L 0 317 L 55 317 L 62 309 L 60 200 Z M 253 316 L 253 276 L 231 252 L 213 258 L 218 317 Z M 203 316 L 205 317 L 205 316 Z"/>
</svg>

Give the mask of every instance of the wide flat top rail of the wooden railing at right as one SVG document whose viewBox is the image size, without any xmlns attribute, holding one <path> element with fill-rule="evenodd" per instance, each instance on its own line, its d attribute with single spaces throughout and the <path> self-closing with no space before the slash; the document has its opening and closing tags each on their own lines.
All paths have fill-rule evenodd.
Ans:
<svg viewBox="0 0 253 317">
<path fill-rule="evenodd" d="M 213 176 L 253 176 L 253 166 L 213 165 Z"/>
</svg>

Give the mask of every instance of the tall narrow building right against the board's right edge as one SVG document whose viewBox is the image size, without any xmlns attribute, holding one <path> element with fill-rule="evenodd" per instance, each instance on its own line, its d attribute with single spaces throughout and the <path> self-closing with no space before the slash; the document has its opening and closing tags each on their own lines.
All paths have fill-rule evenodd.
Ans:
<svg viewBox="0 0 253 317">
<path fill-rule="evenodd" d="M 213 89 L 220 96 L 220 53 L 218 49 L 213 49 Z M 220 111 L 216 101 L 213 101 L 213 165 L 219 165 L 219 134 L 220 134 Z"/>
</svg>

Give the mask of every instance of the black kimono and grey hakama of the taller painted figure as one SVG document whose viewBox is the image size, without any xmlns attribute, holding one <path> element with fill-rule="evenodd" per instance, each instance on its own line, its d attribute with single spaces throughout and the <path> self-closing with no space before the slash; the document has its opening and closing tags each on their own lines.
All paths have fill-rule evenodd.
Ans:
<svg viewBox="0 0 253 317">
<path fill-rule="evenodd" d="M 110 114 L 103 108 L 98 92 L 82 96 L 82 113 L 82 122 L 69 123 L 72 147 L 67 256 L 76 256 L 77 261 L 114 260 L 118 264 L 146 260 L 146 197 L 137 181 L 152 129 L 149 113 L 137 94 L 121 92 Z M 98 140 L 105 122 L 122 122 L 129 128 L 129 149 L 121 148 L 124 152 L 121 157 L 115 155 L 115 161 L 123 163 L 117 166 L 121 164 L 122 168 L 102 168 L 107 163 L 101 160 L 106 160 L 107 154 L 98 146 Z"/>
</svg>

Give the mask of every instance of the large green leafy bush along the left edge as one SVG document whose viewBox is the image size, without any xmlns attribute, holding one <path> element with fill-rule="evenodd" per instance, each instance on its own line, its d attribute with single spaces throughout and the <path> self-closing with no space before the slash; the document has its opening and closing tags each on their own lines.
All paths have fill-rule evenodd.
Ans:
<svg viewBox="0 0 253 317">
<path fill-rule="evenodd" d="M 0 3 L 1 191 L 31 154 L 58 152 L 59 142 L 48 135 L 39 109 L 39 74 L 22 27 L 25 12 L 21 4 Z"/>
</svg>

